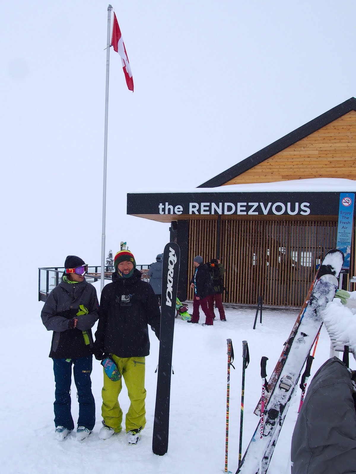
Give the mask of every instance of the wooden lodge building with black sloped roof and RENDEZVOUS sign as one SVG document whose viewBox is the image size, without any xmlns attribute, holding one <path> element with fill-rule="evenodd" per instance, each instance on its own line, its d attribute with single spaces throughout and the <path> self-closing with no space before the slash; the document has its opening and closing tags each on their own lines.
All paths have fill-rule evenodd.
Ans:
<svg viewBox="0 0 356 474">
<path fill-rule="evenodd" d="M 324 180 L 325 187 L 301 182 L 299 188 L 295 181 L 289 187 L 290 180 L 307 178 L 348 181 L 345 187 L 335 179 Z M 269 184 L 239 186 L 250 183 Z M 202 255 L 204 261 L 220 258 L 226 268 L 223 301 L 255 305 L 262 295 L 264 305 L 299 307 L 316 265 L 336 246 L 340 192 L 355 190 L 356 99 L 351 98 L 192 192 L 129 193 L 127 213 L 171 223 L 171 240 L 181 250 L 182 301 L 193 299 L 193 259 Z M 348 275 L 344 284 L 347 288 Z"/>
</svg>

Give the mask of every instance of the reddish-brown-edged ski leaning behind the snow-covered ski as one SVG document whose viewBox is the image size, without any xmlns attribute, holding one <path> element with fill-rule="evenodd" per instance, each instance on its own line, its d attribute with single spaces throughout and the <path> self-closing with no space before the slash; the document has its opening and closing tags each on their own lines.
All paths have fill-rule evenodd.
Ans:
<svg viewBox="0 0 356 474">
<path fill-rule="evenodd" d="M 300 324 L 300 320 L 303 318 L 305 309 L 307 307 L 307 304 L 308 304 L 308 301 L 309 301 L 309 298 L 310 298 L 310 294 L 311 294 L 316 282 L 318 281 L 318 279 L 322 275 L 325 275 L 325 274 L 332 274 L 332 275 L 338 276 L 339 273 L 341 272 L 341 268 L 342 268 L 343 263 L 344 263 L 344 254 L 340 250 L 337 250 L 335 248 L 329 250 L 325 254 L 323 260 L 321 261 L 319 269 L 318 269 L 317 273 L 315 273 L 314 279 L 313 279 L 313 281 L 310 285 L 307 297 L 306 297 L 306 299 L 303 303 L 303 306 L 301 307 L 298 318 L 296 319 L 296 321 L 294 323 L 294 326 L 293 326 L 293 329 L 291 330 L 290 336 L 288 337 L 287 341 L 284 344 L 284 348 L 283 348 L 283 351 L 281 353 L 281 356 L 278 359 L 277 365 L 275 366 L 275 368 L 273 370 L 273 373 L 270 377 L 270 380 L 268 382 L 268 385 L 267 385 L 268 392 L 266 392 L 266 395 L 265 395 L 265 404 L 270 399 L 270 397 L 272 395 L 272 392 L 273 392 L 273 389 L 274 389 L 274 386 L 276 384 L 276 381 L 277 381 L 277 379 L 279 378 L 279 376 L 281 374 L 281 370 L 283 368 L 284 362 L 285 362 L 285 360 L 288 356 L 288 353 L 290 351 L 290 346 L 293 342 L 294 336 L 295 336 L 296 331 L 298 329 L 298 326 Z M 261 399 L 258 402 L 258 404 L 257 404 L 257 406 L 254 410 L 255 415 L 260 416 L 260 413 L 261 413 Z"/>
</svg>

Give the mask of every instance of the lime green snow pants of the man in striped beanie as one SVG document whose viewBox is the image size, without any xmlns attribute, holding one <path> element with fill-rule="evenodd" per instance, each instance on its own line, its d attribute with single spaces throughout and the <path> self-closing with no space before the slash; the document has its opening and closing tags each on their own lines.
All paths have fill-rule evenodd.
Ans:
<svg viewBox="0 0 356 474">
<path fill-rule="evenodd" d="M 146 425 L 145 410 L 145 358 L 144 357 L 117 357 L 111 355 L 125 381 L 131 401 L 126 414 L 126 432 L 134 428 L 144 428 Z M 102 390 L 102 416 L 106 426 L 114 428 L 116 433 L 122 430 L 122 409 L 119 405 L 119 394 L 122 390 L 122 378 L 112 382 L 104 374 Z"/>
</svg>

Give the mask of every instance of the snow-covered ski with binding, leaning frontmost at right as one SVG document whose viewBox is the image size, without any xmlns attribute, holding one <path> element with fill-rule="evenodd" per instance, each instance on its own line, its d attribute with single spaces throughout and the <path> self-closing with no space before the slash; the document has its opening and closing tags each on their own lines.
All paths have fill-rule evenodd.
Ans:
<svg viewBox="0 0 356 474">
<path fill-rule="evenodd" d="M 327 255 L 328 259 L 325 262 Z M 291 396 L 311 347 L 319 334 L 322 325 L 321 312 L 327 303 L 332 301 L 337 291 L 337 276 L 341 271 L 344 255 L 337 250 L 327 255 L 320 265 L 323 267 L 320 272 L 322 274 L 316 279 L 298 327 L 292 340 L 289 341 L 288 352 L 275 379 L 272 393 L 268 394 L 269 399 L 264 403 L 263 436 L 260 438 L 261 423 L 259 422 L 236 474 L 265 474 L 268 469 Z M 260 467 L 260 456 L 262 467 Z"/>
</svg>

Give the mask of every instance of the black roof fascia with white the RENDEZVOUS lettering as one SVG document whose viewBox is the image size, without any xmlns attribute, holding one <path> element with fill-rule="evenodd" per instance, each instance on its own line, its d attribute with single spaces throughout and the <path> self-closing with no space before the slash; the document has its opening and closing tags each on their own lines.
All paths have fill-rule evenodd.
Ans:
<svg viewBox="0 0 356 474">
<path fill-rule="evenodd" d="M 127 213 L 172 215 L 172 220 L 174 215 L 337 216 L 339 196 L 339 192 L 129 193 Z"/>
</svg>

